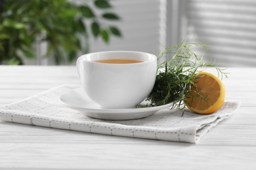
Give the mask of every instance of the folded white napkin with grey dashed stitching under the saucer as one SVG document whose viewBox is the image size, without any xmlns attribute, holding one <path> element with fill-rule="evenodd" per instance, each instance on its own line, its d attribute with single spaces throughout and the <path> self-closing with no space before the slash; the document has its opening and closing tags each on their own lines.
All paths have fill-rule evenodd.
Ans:
<svg viewBox="0 0 256 170">
<path fill-rule="evenodd" d="M 0 107 L 0 119 L 7 122 L 70 129 L 105 135 L 196 143 L 207 131 L 238 109 L 240 102 L 226 101 L 214 114 L 200 115 L 186 110 L 159 110 L 138 120 L 109 121 L 89 118 L 62 105 L 60 95 L 77 86 L 63 85 L 28 99 Z"/>
</svg>

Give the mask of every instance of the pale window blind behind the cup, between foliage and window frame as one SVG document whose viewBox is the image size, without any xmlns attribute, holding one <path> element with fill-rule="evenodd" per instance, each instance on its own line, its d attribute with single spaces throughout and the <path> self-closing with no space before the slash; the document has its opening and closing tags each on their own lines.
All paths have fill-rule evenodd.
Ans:
<svg viewBox="0 0 256 170">
<path fill-rule="evenodd" d="M 121 29 L 123 37 L 110 37 L 109 44 L 104 44 L 100 39 L 91 39 L 90 52 L 135 50 L 158 54 L 160 47 L 165 46 L 166 1 L 118 0 L 111 3 L 121 17 L 114 25 Z"/>
</svg>

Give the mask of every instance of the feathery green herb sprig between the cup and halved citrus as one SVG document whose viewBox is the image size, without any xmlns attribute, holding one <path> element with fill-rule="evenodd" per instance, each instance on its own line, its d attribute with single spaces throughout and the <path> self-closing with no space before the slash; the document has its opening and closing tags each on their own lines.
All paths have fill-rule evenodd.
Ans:
<svg viewBox="0 0 256 170">
<path fill-rule="evenodd" d="M 156 82 L 147 98 L 150 101 L 148 106 L 173 103 L 171 109 L 184 109 L 185 99 L 195 84 L 195 75 L 204 67 L 215 67 L 213 64 L 203 62 L 203 59 L 192 50 L 192 47 L 198 46 L 205 50 L 208 48 L 202 43 L 181 41 L 178 46 L 170 46 L 160 53 L 158 60 L 165 58 L 165 61 L 158 65 Z M 215 68 L 219 76 L 227 76 L 223 69 Z"/>
</svg>

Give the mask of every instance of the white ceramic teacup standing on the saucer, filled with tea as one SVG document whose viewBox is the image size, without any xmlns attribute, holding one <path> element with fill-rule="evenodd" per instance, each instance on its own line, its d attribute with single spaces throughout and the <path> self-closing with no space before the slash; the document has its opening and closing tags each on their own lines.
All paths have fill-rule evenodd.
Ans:
<svg viewBox="0 0 256 170">
<path fill-rule="evenodd" d="M 100 59 L 137 59 L 142 62 L 96 62 Z M 77 59 L 83 90 L 104 109 L 133 108 L 141 103 L 154 87 L 156 69 L 156 56 L 145 52 L 95 52 Z"/>
</svg>

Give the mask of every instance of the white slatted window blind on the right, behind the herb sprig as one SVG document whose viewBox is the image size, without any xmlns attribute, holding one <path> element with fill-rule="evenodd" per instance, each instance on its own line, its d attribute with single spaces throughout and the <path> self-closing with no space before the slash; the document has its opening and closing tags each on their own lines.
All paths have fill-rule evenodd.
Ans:
<svg viewBox="0 0 256 170">
<path fill-rule="evenodd" d="M 186 1 L 186 39 L 203 42 L 218 66 L 256 67 L 256 1 Z M 183 25 L 184 26 L 184 25 Z"/>
</svg>

